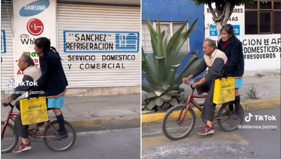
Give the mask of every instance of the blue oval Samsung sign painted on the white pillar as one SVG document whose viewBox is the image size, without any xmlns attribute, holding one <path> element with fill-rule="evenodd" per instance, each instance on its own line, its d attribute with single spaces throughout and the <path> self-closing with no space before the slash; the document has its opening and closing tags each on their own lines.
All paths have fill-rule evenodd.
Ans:
<svg viewBox="0 0 282 159">
<path fill-rule="evenodd" d="M 34 16 L 45 11 L 50 6 L 49 0 L 38 0 L 23 6 L 20 10 L 21 16 Z"/>
</svg>

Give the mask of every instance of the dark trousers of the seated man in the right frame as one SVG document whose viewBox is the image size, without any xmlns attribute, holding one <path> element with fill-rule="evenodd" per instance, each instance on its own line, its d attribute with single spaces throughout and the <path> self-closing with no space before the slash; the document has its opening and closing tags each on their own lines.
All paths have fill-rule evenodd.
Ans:
<svg viewBox="0 0 282 159">
<path fill-rule="evenodd" d="M 198 82 L 202 78 L 197 78 L 194 82 Z M 206 92 L 208 95 L 204 102 L 203 112 L 201 114 L 201 117 L 213 121 L 214 119 L 214 111 L 216 104 L 213 103 L 213 97 L 214 97 L 214 80 L 206 81 L 202 85 L 196 87 L 196 90 L 199 95 Z"/>
</svg>

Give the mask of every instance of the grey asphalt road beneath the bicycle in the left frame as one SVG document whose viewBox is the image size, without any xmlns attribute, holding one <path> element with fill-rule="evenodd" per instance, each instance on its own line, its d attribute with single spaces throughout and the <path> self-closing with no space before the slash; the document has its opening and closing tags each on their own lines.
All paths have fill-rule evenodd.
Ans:
<svg viewBox="0 0 282 159">
<path fill-rule="evenodd" d="M 32 143 L 23 153 L 1 154 L 5 159 L 139 159 L 140 128 L 79 132 L 75 145 L 66 152 L 53 152 L 44 143 Z"/>
</svg>

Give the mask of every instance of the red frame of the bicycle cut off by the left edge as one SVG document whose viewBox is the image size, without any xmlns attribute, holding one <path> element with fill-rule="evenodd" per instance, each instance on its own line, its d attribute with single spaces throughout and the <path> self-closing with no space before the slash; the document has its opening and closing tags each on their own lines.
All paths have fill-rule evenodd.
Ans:
<svg viewBox="0 0 282 159">
<path fill-rule="evenodd" d="M 11 110 L 10 110 L 9 113 L 8 113 L 8 117 L 7 117 L 7 119 L 5 120 L 5 122 L 4 122 L 4 127 L 3 127 L 2 131 L 1 131 L 1 140 L 2 140 L 3 137 L 4 137 L 4 132 L 5 132 L 5 130 L 6 130 L 6 127 L 7 127 L 7 125 L 8 125 L 9 120 L 11 119 L 13 122 L 15 122 L 15 117 L 14 117 L 14 116 L 17 116 L 17 115 L 19 114 L 19 113 L 17 113 L 17 112 L 13 112 L 14 106 L 12 106 L 12 105 L 10 104 L 10 107 L 11 107 Z M 47 121 L 47 124 L 50 125 L 50 121 Z M 42 126 L 42 125 L 41 125 L 41 126 Z M 38 125 L 38 124 L 36 124 L 35 132 L 32 133 L 30 130 L 28 130 L 28 134 L 29 134 L 31 137 L 34 137 L 34 138 L 53 138 L 53 136 L 37 136 L 37 135 L 36 135 L 36 132 L 38 132 L 38 130 L 39 130 L 39 128 L 40 128 L 41 126 Z M 58 132 L 54 129 L 53 126 L 50 125 L 50 127 L 51 127 L 56 133 L 58 133 Z"/>
</svg>

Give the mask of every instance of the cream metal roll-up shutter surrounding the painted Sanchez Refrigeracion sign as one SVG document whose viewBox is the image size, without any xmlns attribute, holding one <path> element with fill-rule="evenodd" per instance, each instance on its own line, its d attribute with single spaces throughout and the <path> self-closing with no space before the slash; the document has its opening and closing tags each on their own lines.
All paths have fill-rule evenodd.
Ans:
<svg viewBox="0 0 282 159">
<path fill-rule="evenodd" d="M 139 51 L 135 53 L 65 53 L 63 32 L 70 30 L 138 32 L 140 37 L 140 7 L 58 3 L 58 50 L 68 87 L 140 86 L 140 40 Z M 95 61 L 69 61 L 69 55 L 95 55 Z M 134 55 L 135 60 L 102 61 L 102 55 Z M 80 69 L 80 64 L 115 62 L 120 63 L 120 67 L 123 64 L 124 69 Z M 68 64 L 72 64 L 72 69 Z"/>
</svg>

